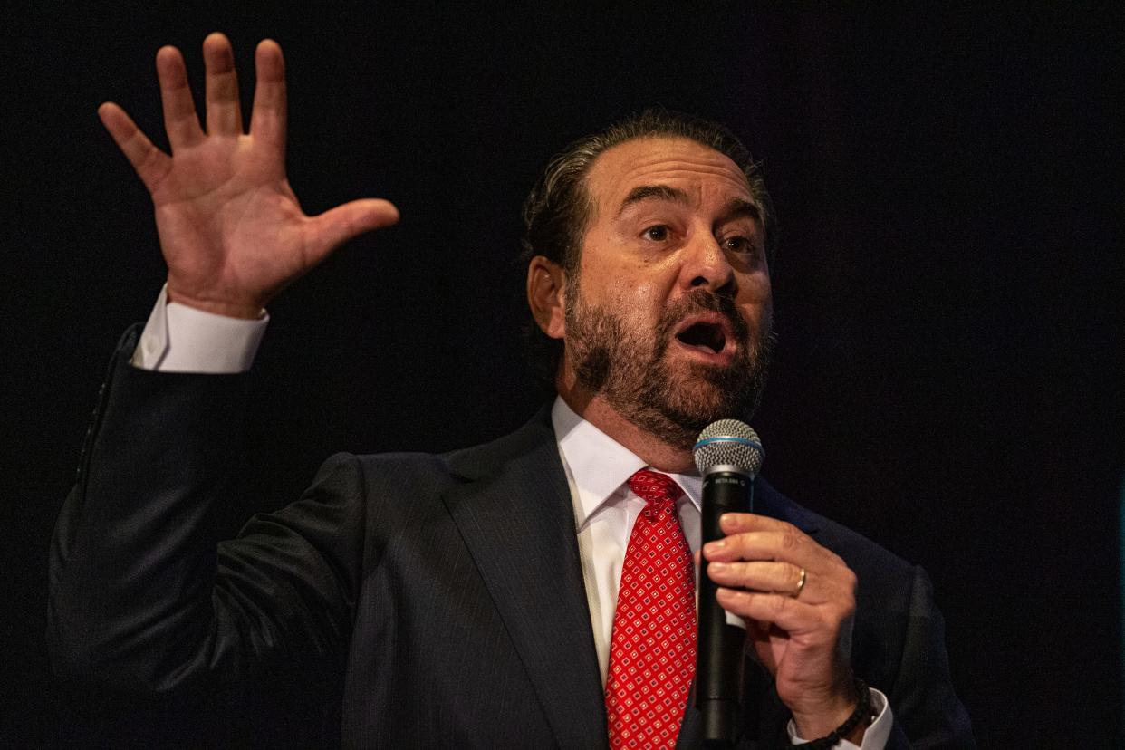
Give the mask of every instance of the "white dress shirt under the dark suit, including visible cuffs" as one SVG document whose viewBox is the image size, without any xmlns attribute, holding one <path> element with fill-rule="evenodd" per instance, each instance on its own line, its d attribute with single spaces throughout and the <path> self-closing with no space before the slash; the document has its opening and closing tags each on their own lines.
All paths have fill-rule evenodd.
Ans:
<svg viewBox="0 0 1125 750">
<path fill-rule="evenodd" d="M 159 372 L 233 373 L 250 369 L 269 316 L 248 320 L 205 313 L 168 301 L 166 290 L 153 306 L 133 354 L 135 367 Z M 629 478 L 645 463 L 590 422 L 575 414 L 561 398 L 551 408 L 551 424 L 559 455 L 570 486 L 578 554 L 586 600 L 590 605 L 594 647 L 602 684 L 609 669 L 613 613 L 626 548 L 633 522 L 645 500 L 629 489 Z M 700 548 L 700 503 L 703 481 L 693 475 L 668 475 L 684 496 L 676 503 L 680 523 L 694 554 Z M 872 689 L 876 717 L 864 733 L 863 744 L 842 740 L 837 750 L 882 750 L 893 722 L 885 696 Z M 803 741 L 789 723 L 793 742 Z M 811 738 L 810 738 L 811 739 Z"/>
</svg>

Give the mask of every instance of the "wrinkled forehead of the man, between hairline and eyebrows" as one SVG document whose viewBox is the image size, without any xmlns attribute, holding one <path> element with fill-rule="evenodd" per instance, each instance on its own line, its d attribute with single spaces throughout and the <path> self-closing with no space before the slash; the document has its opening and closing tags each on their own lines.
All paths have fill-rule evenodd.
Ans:
<svg viewBox="0 0 1125 750">
<path fill-rule="evenodd" d="M 632 191 L 650 186 L 675 188 L 700 202 L 716 198 L 757 205 L 738 164 L 690 138 L 626 141 L 600 154 L 586 174 L 586 189 L 598 215 L 613 215 Z"/>
</svg>

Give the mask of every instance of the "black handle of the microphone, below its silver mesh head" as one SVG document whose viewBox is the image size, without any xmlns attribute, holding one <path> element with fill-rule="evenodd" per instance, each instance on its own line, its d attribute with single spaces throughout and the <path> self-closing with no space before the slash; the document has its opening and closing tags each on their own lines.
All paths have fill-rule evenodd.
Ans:
<svg viewBox="0 0 1125 750">
<path fill-rule="evenodd" d="M 754 478 L 736 467 L 717 467 L 703 477 L 702 505 L 701 535 L 706 544 L 724 536 L 719 526 L 723 513 L 753 513 Z M 708 564 L 704 558 L 700 569 L 695 707 L 702 713 L 703 746 L 731 748 L 739 734 L 746 631 L 727 623 L 727 611 L 714 597 L 719 586 L 706 575 Z M 750 707 L 747 715 L 755 712 L 756 707 Z"/>
</svg>

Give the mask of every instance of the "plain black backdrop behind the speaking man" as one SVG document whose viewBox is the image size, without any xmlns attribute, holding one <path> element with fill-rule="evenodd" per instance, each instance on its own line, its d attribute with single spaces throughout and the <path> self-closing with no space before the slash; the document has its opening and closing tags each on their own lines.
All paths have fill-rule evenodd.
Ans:
<svg viewBox="0 0 1125 750">
<path fill-rule="evenodd" d="M 227 533 L 333 451 L 449 449 L 526 418 L 521 200 L 569 139 L 660 103 L 740 133 L 781 215 L 766 476 L 930 571 L 983 744 L 1115 743 L 1119 17 L 234 4 L 3 11 L 0 744 L 145 741 L 212 711 L 158 721 L 57 685 L 42 633 L 105 362 L 163 274 L 94 110 L 114 99 L 162 141 L 153 54 L 180 46 L 200 81 L 214 29 L 248 101 L 254 43 L 282 44 L 307 210 L 385 196 L 403 214 L 272 305 Z M 312 703 L 252 697 L 243 737 L 296 739 Z"/>
</svg>

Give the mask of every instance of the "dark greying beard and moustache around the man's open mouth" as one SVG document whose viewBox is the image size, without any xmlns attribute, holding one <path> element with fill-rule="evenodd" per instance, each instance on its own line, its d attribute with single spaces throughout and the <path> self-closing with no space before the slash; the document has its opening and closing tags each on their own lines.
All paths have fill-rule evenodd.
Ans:
<svg viewBox="0 0 1125 750">
<path fill-rule="evenodd" d="M 738 314 L 729 295 L 692 290 L 664 309 L 655 327 L 585 304 L 573 283 L 566 290 L 566 346 L 580 386 L 600 394 L 624 418 L 663 442 L 690 450 L 716 419 L 749 421 L 762 391 L 776 337 L 770 311 L 757 331 Z M 669 361 L 673 332 L 688 315 L 719 313 L 737 343 L 726 365 Z"/>
</svg>

